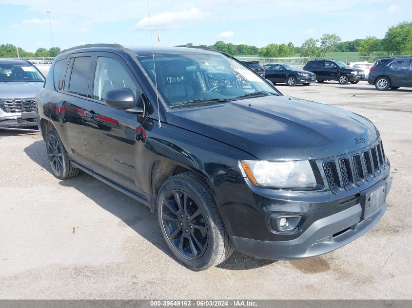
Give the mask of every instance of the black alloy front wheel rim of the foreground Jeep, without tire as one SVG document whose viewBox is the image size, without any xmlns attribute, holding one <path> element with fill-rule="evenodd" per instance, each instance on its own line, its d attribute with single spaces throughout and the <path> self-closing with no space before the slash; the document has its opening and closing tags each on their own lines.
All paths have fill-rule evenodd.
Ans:
<svg viewBox="0 0 412 308">
<path fill-rule="evenodd" d="M 187 192 L 171 191 L 163 201 L 163 226 L 177 252 L 189 259 L 207 248 L 207 225 L 202 210 Z"/>
</svg>

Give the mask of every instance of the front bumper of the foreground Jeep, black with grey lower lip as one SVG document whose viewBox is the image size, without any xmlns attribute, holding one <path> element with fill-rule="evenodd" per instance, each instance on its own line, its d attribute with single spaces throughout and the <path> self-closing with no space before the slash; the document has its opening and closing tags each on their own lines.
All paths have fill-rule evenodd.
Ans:
<svg viewBox="0 0 412 308">
<path fill-rule="evenodd" d="M 390 164 L 373 181 L 349 190 L 280 191 L 253 186 L 241 178 L 213 178 L 214 195 L 235 248 L 266 259 L 313 257 L 342 247 L 370 230 L 386 211 L 392 180 Z M 385 184 L 385 202 L 363 218 L 362 193 Z M 299 215 L 304 223 L 294 233 L 275 232 L 272 214 Z"/>
</svg>

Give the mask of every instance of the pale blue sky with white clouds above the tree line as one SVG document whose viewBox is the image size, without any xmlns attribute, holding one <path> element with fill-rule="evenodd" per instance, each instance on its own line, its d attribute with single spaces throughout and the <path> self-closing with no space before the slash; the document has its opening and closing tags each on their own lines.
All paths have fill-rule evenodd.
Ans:
<svg viewBox="0 0 412 308">
<path fill-rule="evenodd" d="M 376 36 L 412 21 L 412 0 L 149 0 L 157 45 L 270 43 L 295 46 L 324 33 L 342 40 Z M 150 45 L 147 0 L 0 0 L 0 43 L 34 52 L 85 43 Z M 161 41 L 157 43 L 157 30 Z"/>
</svg>

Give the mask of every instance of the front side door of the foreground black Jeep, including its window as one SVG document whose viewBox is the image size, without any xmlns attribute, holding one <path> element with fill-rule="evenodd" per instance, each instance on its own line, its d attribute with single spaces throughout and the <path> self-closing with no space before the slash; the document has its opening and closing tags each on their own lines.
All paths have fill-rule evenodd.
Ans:
<svg viewBox="0 0 412 308">
<path fill-rule="evenodd" d="M 97 53 L 89 87 L 91 98 L 84 105 L 84 137 L 94 172 L 143 196 L 139 159 L 145 132 L 138 115 L 106 106 L 111 90 L 132 90 L 135 98 L 142 91 L 127 63 L 118 55 Z"/>
</svg>

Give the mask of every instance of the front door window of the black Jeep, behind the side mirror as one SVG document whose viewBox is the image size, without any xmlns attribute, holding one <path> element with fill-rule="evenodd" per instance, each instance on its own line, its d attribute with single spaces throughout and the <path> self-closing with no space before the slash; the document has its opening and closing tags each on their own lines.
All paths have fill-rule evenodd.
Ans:
<svg viewBox="0 0 412 308">
<path fill-rule="evenodd" d="M 137 88 L 124 67 L 115 59 L 98 57 L 93 82 L 93 98 L 103 101 L 108 91 L 130 89 L 137 94 Z"/>
</svg>

